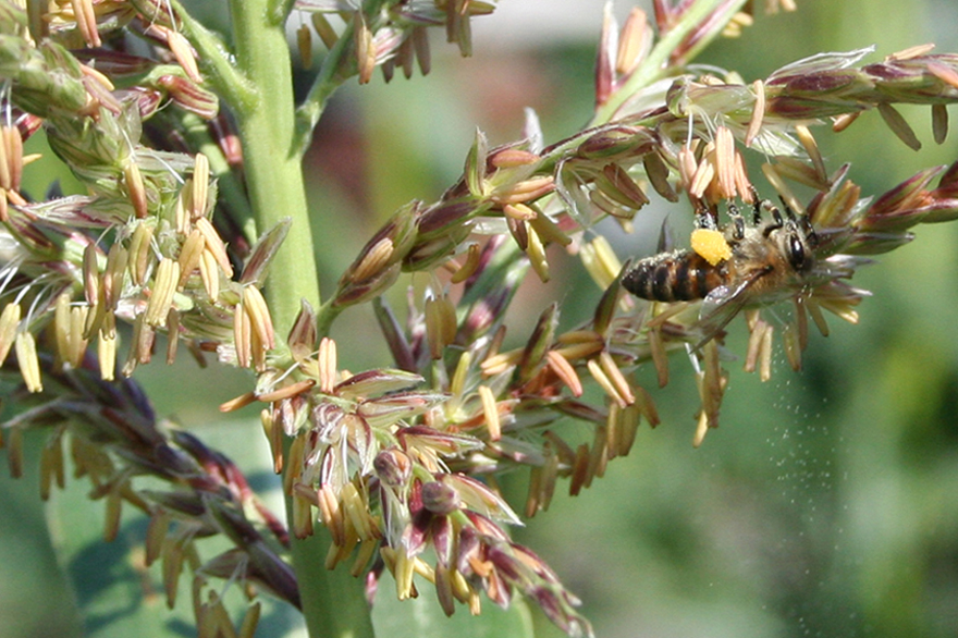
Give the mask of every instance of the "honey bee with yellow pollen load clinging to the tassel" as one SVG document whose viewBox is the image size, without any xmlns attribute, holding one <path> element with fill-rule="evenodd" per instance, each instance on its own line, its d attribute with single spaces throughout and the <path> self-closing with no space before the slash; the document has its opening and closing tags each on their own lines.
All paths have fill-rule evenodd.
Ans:
<svg viewBox="0 0 958 638">
<path fill-rule="evenodd" d="M 778 300 L 794 294 L 814 268 L 818 240 L 808 218 L 786 214 L 770 203 L 756 200 L 752 225 L 738 209 L 728 208 L 730 222 L 722 230 L 728 244 L 727 258 L 712 263 L 691 249 L 662 253 L 639 260 L 622 279 L 631 294 L 653 302 L 703 299 L 702 318 L 722 314 L 721 330 L 740 308 Z M 762 210 L 771 220 L 762 221 Z M 707 213 L 699 216 L 700 228 L 715 229 Z M 784 293 L 776 295 L 776 293 Z"/>
</svg>

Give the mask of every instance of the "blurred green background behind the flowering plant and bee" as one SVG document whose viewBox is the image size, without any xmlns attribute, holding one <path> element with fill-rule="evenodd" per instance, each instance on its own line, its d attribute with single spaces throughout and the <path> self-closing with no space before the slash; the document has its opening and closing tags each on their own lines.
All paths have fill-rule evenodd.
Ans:
<svg viewBox="0 0 958 638">
<path fill-rule="evenodd" d="M 698 61 L 751 82 L 821 51 L 875 45 L 870 61 L 929 41 L 958 51 L 958 3 L 947 0 L 798 4 L 797 13 L 757 11 L 742 37 L 716 42 Z M 552 142 L 589 119 L 602 7 L 503 0 L 495 15 L 475 22 L 471 58 L 459 59 L 433 33 L 429 76 L 389 85 L 377 77 L 337 95 L 306 165 L 326 290 L 395 208 L 434 199 L 460 174 L 477 126 L 492 144 L 513 140 L 523 109 L 531 107 Z M 619 2 L 616 13 L 628 8 Z M 305 86 L 306 75 L 300 79 Z M 850 179 L 864 194 L 880 194 L 922 168 L 958 159 L 958 135 L 942 146 L 931 139 L 928 109 L 900 111 L 924 144 L 920 151 L 868 113 L 840 135 L 813 128 L 830 169 L 851 162 Z M 672 212 L 689 211 L 653 200 L 640 217 Z M 801 372 L 790 370 L 781 349 L 764 384 L 740 361 L 727 363 L 722 427 L 698 450 L 688 363 L 673 360 L 673 382 L 662 391 L 640 370 L 662 425 L 643 427 L 631 455 L 612 463 L 603 479 L 578 498 L 557 495 L 515 535 L 582 599 L 600 637 L 958 635 L 958 224 L 920 226 L 917 234 L 859 272 L 853 283 L 874 293 L 860 323 L 833 318 L 828 338 L 813 333 Z M 651 249 L 648 236 L 611 238 L 621 257 Z M 511 310 L 514 339 L 529 333 L 551 299 L 563 303 L 562 324 L 572 327 L 601 294 L 574 258 L 550 256 L 553 280 L 528 278 Z M 345 314 L 333 330 L 342 367 L 386 363 L 384 344 L 370 339 L 377 332 L 368 307 Z M 733 332 L 732 349 L 744 352 L 739 322 Z M 140 368 L 137 378 L 160 414 L 175 415 L 241 461 L 254 484 L 271 484 L 253 415 L 226 419 L 216 409 L 246 390 L 244 375 L 200 371 L 184 359 L 174 369 Z M 106 550 L 87 544 L 99 533 L 102 504 L 86 503 L 84 484 L 41 508 L 36 457 L 21 481 L 2 474 L 0 638 L 151 635 L 134 611 L 140 603 L 155 613 L 156 635 L 191 635 L 188 610 L 162 619 L 161 597 L 149 585 L 158 569 L 143 572 L 135 551 L 134 559 L 116 559 L 113 548 L 114 557 L 98 559 Z M 519 510 L 525 480 L 505 484 Z M 121 538 L 135 550 L 142 535 L 143 522 L 131 517 Z M 74 549 L 58 562 L 51 542 Z M 82 579 L 89 565 L 103 575 Z M 188 598 L 187 581 L 182 588 Z M 86 614 L 83 626 L 77 609 Z M 269 613 L 258 635 L 296 631 L 295 617 Z M 459 624 L 440 626 L 439 635 L 464 635 L 466 611 L 457 615 Z M 535 622 L 542 635 L 558 635 Z"/>
</svg>

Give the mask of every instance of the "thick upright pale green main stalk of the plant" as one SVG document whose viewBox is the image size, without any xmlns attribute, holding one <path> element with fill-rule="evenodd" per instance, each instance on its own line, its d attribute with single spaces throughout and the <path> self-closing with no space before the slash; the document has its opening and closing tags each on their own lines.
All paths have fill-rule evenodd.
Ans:
<svg viewBox="0 0 958 638">
<path fill-rule="evenodd" d="M 279 334 L 284 335 L 300 299 L 320 307 L 319 281 L 310 234 L 300 155 L 296 145 L 292 60 L 285 19 L 272 0 L 231 0 L 236 63 L 256 87 L 256 99 L 233 105 L 243 138 L 246 177 L 254 217 L 262 232 L 282 218 L 292 232 L 271 266 L 267 300 Z M 286 510 L 292 519 L 291 500 Z M 321 531 L 293 540 L 293 568 L 311 638 L 372 637 L 363 581 L 345 569 L 327 570 L 330 538 Z"/>
</svg>

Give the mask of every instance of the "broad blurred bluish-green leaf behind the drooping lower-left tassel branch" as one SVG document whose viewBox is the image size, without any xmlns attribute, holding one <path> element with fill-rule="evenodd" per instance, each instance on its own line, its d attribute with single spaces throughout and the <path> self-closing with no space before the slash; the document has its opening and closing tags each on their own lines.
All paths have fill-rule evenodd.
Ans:
<svg viewBox="0 0 958 638">
<path fill-rule="evenodd" d="M 258 419 L 221 422 L 213 427 L 197 428 L 194 432 L 204 442 L 223 451 L 233 458 L 255 484 L 271 491 L 268 504 L 281 507 L 279 481 L 269 467 L 269 455 Z M 24 464 L 24 474 L 36 474 L 38 462 Z M 67 470 L 69 473 L 70 470 Z M 152 486 L 152 479 L 139 477 L 136 484 Z M 158 489 L 168 489 L 159 483 Z M 128 504 L 123 505 L 120 531 L 112 542 L 103 541 L 103 500 L 89 500 L 90 486 L 86 478 L 67 475 L 66 489 L 54 489 L 47 507 L 47 524 L 51 530 L 58 562 L 72 581 L 76 605 L 83 617 L 83 636 L 87 638 L 137 638 L 196 635 L 193 612 L 193 573 L 184 566 L 180 577 L 176 604 L 167 606 L 162 586 L 162 559 L 150 567 L 143 563 L 147 518 Z M 39 498 L 37 498 L 37 501 Z M 271 502 L 274 501 L 274 502 Z M 198 541 L 201 561 L 232 547 L 226 539 L 213 537 Z M 34 570 L 37 570 L 34 567 Z M 5 580 L 16 582 L 17 578 Z M 219 591 L 222 581 L 212 580 Z M 65 600 L 69 600 L 66 597 Z M 262 613 L 257 628 L 258 638 L 304 636 L 299 612 L 268 594 L 258 598 Z M 242 622 L 246 601 L 236 587 L 225 592 L 225 604 L 235 627 Z M 19 611 L 19 610 L 17 610 Z M 10 614 L 3 614 L 9 617 Z M 77 622 L 78 624 L 78 622 Z M 0 631 L 4 638 L 8 634 Z M 29 636 L 73 636 L 61 631 L 41 631 Z M 26 638 L 26 635 L 24 635 Z"/>
</svg>

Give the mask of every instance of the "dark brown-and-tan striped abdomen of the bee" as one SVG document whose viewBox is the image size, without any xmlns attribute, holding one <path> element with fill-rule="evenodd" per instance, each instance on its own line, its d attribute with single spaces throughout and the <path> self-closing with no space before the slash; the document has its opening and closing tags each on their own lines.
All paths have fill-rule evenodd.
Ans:
<svg viewBox="0 0 958 638">
<path fill-rule="evenodd" d="M 725 279 L 725 263 L 712 266 L 697 253 L 678 250 L 640 260 L 622 278 L 622 285 L 652 302 L 692 302 L 704 299 Z"/>
</svg>

